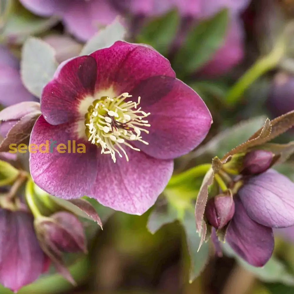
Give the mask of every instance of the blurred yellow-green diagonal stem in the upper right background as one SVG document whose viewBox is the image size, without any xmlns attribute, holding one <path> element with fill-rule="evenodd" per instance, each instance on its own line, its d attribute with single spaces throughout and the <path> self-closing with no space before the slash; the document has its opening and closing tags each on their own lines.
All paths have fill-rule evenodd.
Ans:
<svg viewBox="0 0 294 294">
<path fill-rule="evenodd" d="M 279 61 L 285 54 L 285 41 L 284 35 L 275 44 L 273 50 L 266 56 L 258 59 L 253 66 L 251 66 L 243 76 L 235 83 L 235 85 L 230 89 L 227 96 L 225 97 L 225 102 L 229 106 L 234 106 L 240 98 L 242 97 L 245 90 L 255 82 L 260 76 L 265 74 L 267 71 L 274 69 Z"/>
</svg>

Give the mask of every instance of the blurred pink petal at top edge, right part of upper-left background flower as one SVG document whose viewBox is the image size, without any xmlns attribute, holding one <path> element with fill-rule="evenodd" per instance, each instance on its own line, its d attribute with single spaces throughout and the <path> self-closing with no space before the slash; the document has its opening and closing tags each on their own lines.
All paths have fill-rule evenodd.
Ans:
<svg viewBox="0 0 294 294">
<path fill-rule="evenodd" d="M 116 12 L 107 0 L 72 1 L 65 9 L 66 28 L 81 41 L 87 41 L 99 28 L 111 24 Z"/>
</svg>

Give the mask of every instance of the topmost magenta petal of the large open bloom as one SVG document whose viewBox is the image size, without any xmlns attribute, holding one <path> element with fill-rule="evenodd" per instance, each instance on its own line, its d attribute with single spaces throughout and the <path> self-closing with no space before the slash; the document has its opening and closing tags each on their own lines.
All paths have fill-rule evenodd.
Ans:
<svg viewBox="0 0 294 294">
<path fill-rule="evenodd" d="M 96 91 L 113 86 L 119 95 L 130 92 L 140 81 L 151 76 L 175 77 L 169 61 L 146 46 L 117 41 L 91 56 L 98 66 Z"/>
</svg>

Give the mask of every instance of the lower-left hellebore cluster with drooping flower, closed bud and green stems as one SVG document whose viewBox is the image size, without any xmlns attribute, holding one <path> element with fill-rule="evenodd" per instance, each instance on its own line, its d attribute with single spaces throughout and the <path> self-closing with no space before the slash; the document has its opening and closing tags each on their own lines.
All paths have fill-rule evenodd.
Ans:
<svg viewBox="0 0 294 294">
<path fill-rule="evenodd" d="M 8 163 L 20 166 L 10 153 L 0 152 L 0 158 L 0 283 L 16 292 L 47 271 L 52 261 L 75 284 L 63 253 L 87 251 L 77 215 L 101 226 L 95 209 L 83 199 L 56 202 L 34 185 L 28 173 Z"/>
</svg>

